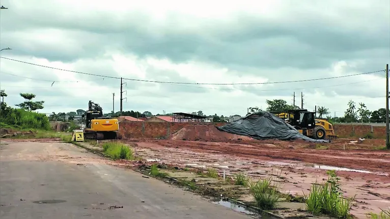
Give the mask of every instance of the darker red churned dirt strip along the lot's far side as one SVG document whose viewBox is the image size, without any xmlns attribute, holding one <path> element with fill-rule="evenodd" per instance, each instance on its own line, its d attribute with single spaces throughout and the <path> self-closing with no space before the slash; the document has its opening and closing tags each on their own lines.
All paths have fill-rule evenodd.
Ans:
<svg viewBox="0 0 390 219">
<path fill-rule="evenodd" d="M 370 171 L 387 171 L 390 169 L 390 153 L 386 150 L 370 149 L 378 147 L 377 144 L 373 143 L 383 141 L 381 139 L 369 139 L 365 144 L 348 144 L 350 140 L 339 139 L 335 143 L 319 145 L 324 145 L 323 147 L 328 149 L 306 149 L 313 147 L 313 143 L 300 140 L 236 140 L 229 143 L 146 139 L 143 141 L 164 147 L 188 149 L 194 152 L 225 153 L 235 157 L 265 161 L 292 160 Z M 346 144 L 346 150 L 343 150 L 344 144 Z M 314 144 L 314 147 L 317 147 L 317 145 Z"/>
</svg>

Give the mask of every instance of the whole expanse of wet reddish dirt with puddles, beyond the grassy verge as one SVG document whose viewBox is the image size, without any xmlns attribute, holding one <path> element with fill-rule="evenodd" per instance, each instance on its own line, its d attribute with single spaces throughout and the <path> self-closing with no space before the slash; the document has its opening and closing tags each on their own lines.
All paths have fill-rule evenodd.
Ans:
<svg viewBox="0 0 390 219">
<path fill-rule="evenodd" d="M 390 207 L 390 153 L 370 149 L 384 145 L 383 140 L 350 141 L 339 139 L 330 144 L 316 145 L 277 140 L 235 140 L 230 143 L 127 140 L 136 153 L 148 161 L 181 167 L 212 167 L 217 168 L 220 174 L 226 171 L 228 175 L 241 172 L 255 180 L 281 171 L 284 192 L 296 195 L 308 193 L 315 181 L 325 181 L 327 170 L 339 170 L 344 195 L 356 198 L 351 213 L 356 218 L 366 218 L 368 212 L 380 212 L 379 208 Z M 249 196 L 247 198 L 250 199 Z M 245 199 L 243 197 L 242 201 Z"/>
</svg>

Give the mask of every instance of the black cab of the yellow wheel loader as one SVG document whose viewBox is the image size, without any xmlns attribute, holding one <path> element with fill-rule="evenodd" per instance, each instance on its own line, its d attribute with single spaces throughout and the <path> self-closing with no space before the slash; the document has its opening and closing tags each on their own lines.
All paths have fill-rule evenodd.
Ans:
<svg viewBox="0 0 390 219">
<path fill-rule="evenodd" d="M 314 129 L 316 127 L 315 112 L 306 109 L 289 110 L 289 123 L 301 129 Z"/>
</svg>

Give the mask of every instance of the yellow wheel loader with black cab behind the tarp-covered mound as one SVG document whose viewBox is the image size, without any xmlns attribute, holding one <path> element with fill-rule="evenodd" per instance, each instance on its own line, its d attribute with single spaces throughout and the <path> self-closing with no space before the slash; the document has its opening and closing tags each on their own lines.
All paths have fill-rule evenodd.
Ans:
<svg viewBox="0 0 390 219">
<path fill-rule="evenodd" d="M 324 118 L 315 118 L 316 113 L 307 109 L 289 110 L 286 112 L 272 112 L 279 118 L 285 119 L 301 134 L 314 139 L 338 138 L 332 124 Z"/>
</svg>

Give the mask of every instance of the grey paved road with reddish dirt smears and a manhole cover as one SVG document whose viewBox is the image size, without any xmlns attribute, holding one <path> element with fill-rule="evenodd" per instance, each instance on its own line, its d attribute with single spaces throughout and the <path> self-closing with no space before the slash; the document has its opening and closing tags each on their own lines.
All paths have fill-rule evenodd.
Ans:
<svg viewBox="0 0 390 219">
<path fill-rule="evenodd" d="M 71 144 L 8 142 L 0 163 L 2 219 L 249 218 Z"/>
</svg>

